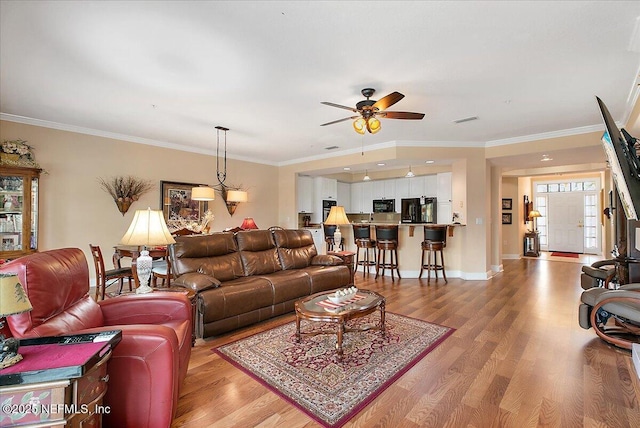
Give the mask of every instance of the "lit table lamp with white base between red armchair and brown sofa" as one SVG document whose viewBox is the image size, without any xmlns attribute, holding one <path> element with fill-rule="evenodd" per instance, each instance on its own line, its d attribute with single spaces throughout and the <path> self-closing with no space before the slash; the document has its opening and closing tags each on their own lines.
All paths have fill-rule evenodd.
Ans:
<svg viewBox="0 0 640 428">
<path fill-rule="evenodd" d="M 153 259 L 149 256 L 147 247 L 175 244 L 175 239 L 171 236 L 171 232 L 167 228 L 164 221 L 162 211 L 137 210 L 133 216 L 133 221 L 129 226 L 129 230 L 120 240 L 120 245 L 137 245 L 142 246 L 140 257 L 136 259 L 136 272 L 140 280 L 140 286 L 136 288 L 136 294 L 150 293 L 153 291 L 149 287 L 149 279 L 151 278 L 151 269 Z"/>
</svg>

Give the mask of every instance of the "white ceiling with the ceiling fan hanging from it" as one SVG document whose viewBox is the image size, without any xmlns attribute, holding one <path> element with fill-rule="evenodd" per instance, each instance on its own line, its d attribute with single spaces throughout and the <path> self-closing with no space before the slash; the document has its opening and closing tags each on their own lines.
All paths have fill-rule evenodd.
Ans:
<svg viewBox="0 0 640 428">
<path fill-rule="evenodd" d="M 203 153 L 221 125 L 230 157 L 274 165 L 603 129 L 594 95 L 621 122 L 635 100 L 639 16 L 638 1 L 2 0 L 0 112 Z M 365 87 L 426 117 L 364 139 L 320 127 L 351 115 L 321 101 Z"/>
</svg>

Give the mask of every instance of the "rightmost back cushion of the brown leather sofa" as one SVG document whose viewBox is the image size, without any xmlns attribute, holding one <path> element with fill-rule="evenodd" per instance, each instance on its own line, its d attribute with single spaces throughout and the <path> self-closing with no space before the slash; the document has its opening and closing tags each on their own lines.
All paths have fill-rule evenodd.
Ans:
<svg viewBox="0 0 640 428">
<path fill-rule="evenodd" d="M 313 236 L 306 229 L 275 230 L 273 236 L 278 245 L 280 263 L 285 270 L 307 267 L 318 254 L 313 245 Z"/>
</svg>

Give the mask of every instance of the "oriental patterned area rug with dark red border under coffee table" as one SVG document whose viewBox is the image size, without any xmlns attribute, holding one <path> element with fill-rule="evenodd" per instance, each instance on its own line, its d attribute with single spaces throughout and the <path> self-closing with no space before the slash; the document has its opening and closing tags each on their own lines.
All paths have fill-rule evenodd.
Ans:
<svg viewBox="0 0 640 428">
<path fill-rule="evenodd" d="M 378 325 L 371 314 L 349 321 L 350 328 Z M 361 411 L 455 330 L 415 318 L 386 314 L 386 335 L 378 330 L 349 332 L 344 356 L 335 334 L 303 336 L 295 322 L 274 327 L 214 349 L 325 427 L 337 428 Z M 335 331 L 336 324 L 302 321 L 302 332 Z"/>
</svg>

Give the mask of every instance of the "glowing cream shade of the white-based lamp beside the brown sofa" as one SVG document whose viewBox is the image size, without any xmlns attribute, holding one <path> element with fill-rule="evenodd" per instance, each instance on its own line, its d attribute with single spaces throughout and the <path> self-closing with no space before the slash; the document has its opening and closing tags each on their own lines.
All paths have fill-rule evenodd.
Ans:
<svg viewBox="0 0 640 428">
<path fill-rule="evenodd" d="M 120 240 L 120 245 L 155 246 L 175 242 L 164 221 L 162 211 L 149 208 L 136 211 L 129 230 Z"/>
</svg>

